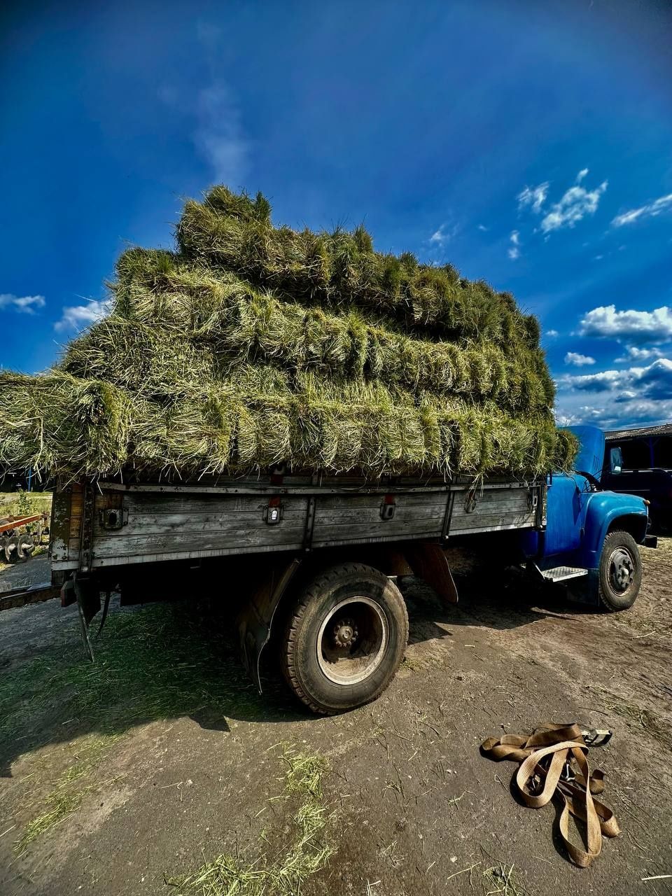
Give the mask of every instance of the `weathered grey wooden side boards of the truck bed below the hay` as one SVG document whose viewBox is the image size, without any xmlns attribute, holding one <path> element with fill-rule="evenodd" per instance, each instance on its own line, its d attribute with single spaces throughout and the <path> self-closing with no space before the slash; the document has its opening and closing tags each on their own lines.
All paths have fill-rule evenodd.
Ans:
<svg viewBox="0 0 672 896">
<path fill-rule="evenodd" d="M 260 476 L 56 488 L 55 571 L 542 528 L 545 480 Z"/>
</svg>

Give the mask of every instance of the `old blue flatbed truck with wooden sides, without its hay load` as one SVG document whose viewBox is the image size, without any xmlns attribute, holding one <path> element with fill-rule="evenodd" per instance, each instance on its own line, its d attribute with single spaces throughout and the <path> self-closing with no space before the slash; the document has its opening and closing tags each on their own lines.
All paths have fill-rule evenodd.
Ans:
<svg viewBox="0 0 672 896">
<path fill-rule="evenodd" d="M 647 505 L 602 491 L 604 435 L 574 432 L 576 471 L 532 479 L 371 480 L 279 465 L 195 483 L 70 482 L 54 492 L 51 582 L 0 593 L 0 608 L 76 603 L 93 659 L 89 625 L 101 608 L 104 621 L 112 592 L 123 604 L 205 592 L 235 620 L 260 690 L 272 644 L 309 709 L 348 710 L 381 694 L 403 658 L 409 621 L 397 577 L 413 573 L 456 602 L 444 548 L 460 540 L 478 538 L 485 556 L 540 582 L 572 582 L 607 610 L 632 606 Z"/>
</svg>

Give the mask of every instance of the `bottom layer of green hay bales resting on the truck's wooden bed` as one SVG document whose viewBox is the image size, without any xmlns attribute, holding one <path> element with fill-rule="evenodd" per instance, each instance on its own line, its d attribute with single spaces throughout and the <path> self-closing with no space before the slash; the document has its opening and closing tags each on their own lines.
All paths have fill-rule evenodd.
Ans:
<svg viewBox="0 0 672 896">
<path fill-rule="evenodd" d="M 0 440 L 0 462 L 11 465 L 21 449 L 23 466 L 58 463 L 72 475 L 126 467 L 196 476 L 287 461 L 294 470 L 371 475 L 526 476 L 564 466 L 571 444 L 547 413 L 520 420 L 492 402 L 272 366 L 239 366 L 219 383 L 167 387 L 152 398 L 64 374 L 16 380 L 23 389 L 4 391 L 0 415 L 25 414 L 17 401 L 30 396 L 31 426 L 21 439 Z"/>
</svg>

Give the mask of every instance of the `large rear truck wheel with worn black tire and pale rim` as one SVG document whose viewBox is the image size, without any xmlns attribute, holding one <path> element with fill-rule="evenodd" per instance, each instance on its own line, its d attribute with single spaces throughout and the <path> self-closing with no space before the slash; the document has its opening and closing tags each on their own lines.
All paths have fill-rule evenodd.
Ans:
<svg viewBox="0 0 672 896">
<path fill-rule="evenodd" d="M 281 650 L 287 683 L 312 711 L 329 715 L 375 700 L 409 641 L 401 591 L 364 564 L 319 575 L 289 616 Z"/>
</svg>

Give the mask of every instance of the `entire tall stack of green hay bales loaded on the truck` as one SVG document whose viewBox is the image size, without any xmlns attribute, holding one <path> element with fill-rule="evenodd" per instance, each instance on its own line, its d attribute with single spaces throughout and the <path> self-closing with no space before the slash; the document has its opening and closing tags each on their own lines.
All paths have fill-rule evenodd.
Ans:
<svg viewBox="0 0 672 896">
<path fill-rule="evenodd" d="M 186 202 L 130 249 L 111 312 L 45 375 L 0 375 L 0 464 L 45 475 L 565 469 L 538 322 L 364 228 L 275 228 L 263 196 Z"/>
</svg>

